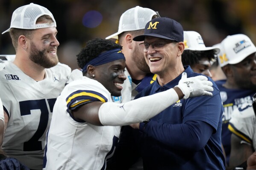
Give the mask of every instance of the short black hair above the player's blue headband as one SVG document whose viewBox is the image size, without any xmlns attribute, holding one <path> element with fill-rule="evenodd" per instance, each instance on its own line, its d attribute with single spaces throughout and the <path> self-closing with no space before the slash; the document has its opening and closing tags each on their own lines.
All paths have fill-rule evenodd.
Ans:
<svg viewBox="0 0 256 170">
<path fill-rule="evenodd" d="M 77 55 L 77 64 L 79 68 L 83 68 L 86 63 L 96 58 L 102 52 L 116 48 L 122 49 L 122 46 L 115 43 L 113 40 L 106 40 L 102 38 L 89 40 L 86 43 L 85 48 L 83 48 Z"/>
</svg>

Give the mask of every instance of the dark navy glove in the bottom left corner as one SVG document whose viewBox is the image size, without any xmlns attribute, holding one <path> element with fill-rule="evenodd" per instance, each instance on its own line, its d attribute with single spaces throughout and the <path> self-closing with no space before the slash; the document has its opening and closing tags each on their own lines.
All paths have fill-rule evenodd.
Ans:
<svg viewBox="0 0 256 170">
<path fill-rule="evenodd" d="M 0 161 L 0 170 L 29 170 L 15 158 L 4 158 Z"/>
</svg>

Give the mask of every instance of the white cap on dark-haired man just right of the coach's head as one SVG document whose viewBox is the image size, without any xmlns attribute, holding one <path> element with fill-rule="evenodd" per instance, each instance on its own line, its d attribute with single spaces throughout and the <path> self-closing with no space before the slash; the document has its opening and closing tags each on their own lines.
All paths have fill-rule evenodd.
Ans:
<svg viewBox="0 0 256 170">
<path fill-rule="evenodd" d="M 185 50 L 207 51 L 215 49 L 216 54 L 220 52 L 220 49 L 218 47 L 206 47 L 203 43 L 202 36 L 195 31 L 184 31 L 184 43 Z"/>
</svg>

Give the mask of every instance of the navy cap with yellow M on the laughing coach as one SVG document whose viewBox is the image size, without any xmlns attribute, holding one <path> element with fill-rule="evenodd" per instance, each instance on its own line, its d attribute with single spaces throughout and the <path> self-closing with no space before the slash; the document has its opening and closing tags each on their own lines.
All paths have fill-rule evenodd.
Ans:
<svg viewBox="0 0 256 170">
<path fill-rule="evenodd" d="M 183 42 L 183 28 L 176 20 L 168 17 L 159 17 L 149 21 L 144 30 L 144 35 L 134 37 L 134 41 L 144 41 L 145 36 L 159 37 L 167 40 Z"/>
</svg>

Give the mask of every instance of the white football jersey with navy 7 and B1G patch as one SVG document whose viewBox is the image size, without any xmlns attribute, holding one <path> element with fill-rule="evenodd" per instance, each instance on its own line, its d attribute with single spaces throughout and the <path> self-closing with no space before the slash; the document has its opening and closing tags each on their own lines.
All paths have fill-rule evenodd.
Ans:
<svg viewBox="0 0 256 170">
<path fill-rule="evenodd" d="M 46 69 L 44 80 L 37 82 L 12 62 L 6 61 L 5 65 L 0 71 L 0 98 L 9 121 L 2 148 L 9 157 L 40 170 L 53 105 L 71 68 L 58 63 Z"/>
</svg>

